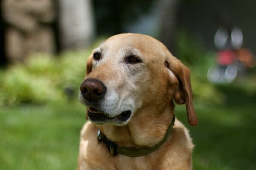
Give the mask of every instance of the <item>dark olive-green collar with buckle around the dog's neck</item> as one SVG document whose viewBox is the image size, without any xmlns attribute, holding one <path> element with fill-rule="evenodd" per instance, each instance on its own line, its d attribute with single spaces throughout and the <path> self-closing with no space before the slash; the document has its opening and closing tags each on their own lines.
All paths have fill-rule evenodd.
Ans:
<svg viewBox="0 0 256 170">
<path fill-rule="evenodd" d="M 163 139 L 158 144 L 156 144 L 154 147 L 143 147 L 140 149 L 137 149 L 135 147 L 119 147 L 116 145 L 115 142 L 112 142 L 111 140 L 109 140 L 100 130 L 98 131 L 97 139 L 98 139 L 98 142 L 102 141 L 105 143 L 105 145 L 108 147 L 108 150 L 110 151 L 111 155 L 113 155 L 113 156 L 116 156 L 117 153 L 126 155 L 126 156 L 132 156 L 132 157 L 144 156 L 144 155 L 148 155 L 149 153 L 154 152 L 164 142 L 166 142 L 166 140 L 168 139 L 168 137 L 171 134 L 174 122 L 175 122 L 175 116 L 173 116 L 172 123 L 166 130 L 166 133 L 165 133 Z"/>
</svg>

